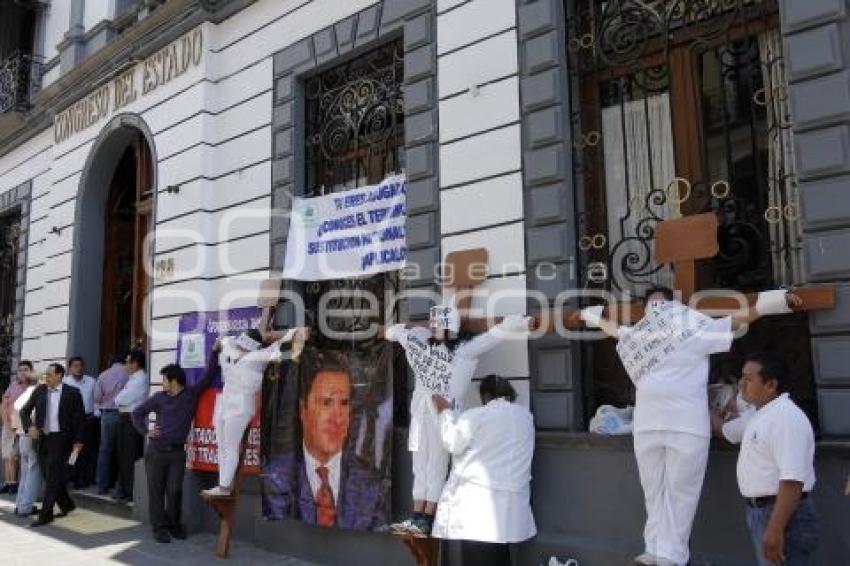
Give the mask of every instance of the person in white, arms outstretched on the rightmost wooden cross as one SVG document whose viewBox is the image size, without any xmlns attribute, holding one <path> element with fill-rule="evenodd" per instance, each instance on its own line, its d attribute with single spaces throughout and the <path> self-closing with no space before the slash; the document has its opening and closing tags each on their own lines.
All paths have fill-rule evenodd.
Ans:
<svg viewBox="0 0 850 566">
<path fill-rule="evenodd" d="M 647 291 L 646 312 L 633 327 L 588 307 L 581 318 L 618 339 L 617 352 L 635 384 L 634 449 L 646 503 L 645 549 L 637 564 L 687 564 L 708 448 L 709 356 L 727 352 L 733 332 L 762 315 L 791 312 L 786 291 L 760 293 L 755 307 L 712 319 L 674 300 L 671 289 Z"/>
</svg>

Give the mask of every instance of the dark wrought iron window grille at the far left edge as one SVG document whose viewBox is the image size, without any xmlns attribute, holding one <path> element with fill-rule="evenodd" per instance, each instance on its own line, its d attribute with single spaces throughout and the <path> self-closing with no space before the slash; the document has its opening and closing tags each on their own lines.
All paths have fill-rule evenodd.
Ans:
<svg viewBox="0 0 850 566">
<path fill-rule="evenodd" d="M 0 388 L 5 391 L 12 374 L 15 352 L 15 300 L 18 273 L 18 214 L 0 217 Z"/>
</svg>

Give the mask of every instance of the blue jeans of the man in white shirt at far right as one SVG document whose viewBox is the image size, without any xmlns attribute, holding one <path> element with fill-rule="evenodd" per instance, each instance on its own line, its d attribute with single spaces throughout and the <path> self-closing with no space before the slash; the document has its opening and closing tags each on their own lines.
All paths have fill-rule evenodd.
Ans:
<svg viewBox="0 0 850 566">
<path fill-rule="evenodd" d="M 762 554 L 762 537 L 773 514 L 773 505 L 764 507 L 747 506 L 747 526 L 756 552 L 759 566 L 772 566 Z M 788 526 L 785 527 L 784 566 L 808 566 L 813 564 L 812 555 L 820 540 L 820 522 L 811 497 L 803 499 L 797 505 Z"/>
</svg>

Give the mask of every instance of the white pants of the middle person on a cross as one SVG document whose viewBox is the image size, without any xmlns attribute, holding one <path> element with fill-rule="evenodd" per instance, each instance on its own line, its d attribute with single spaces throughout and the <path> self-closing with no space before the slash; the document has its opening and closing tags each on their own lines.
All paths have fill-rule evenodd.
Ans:
<svg viewBox="0 0 850 566">
<path fill-rule="evenodd" d="M 416 450 L 412 451 L 413 459 L 413 500 L 440 500 L 443 485 L 449 469 L 449 453 L 443 448 L 440 438 L 440 423 L 429 409 L 422 411 L 418 417 L 419 442 Z M 413 428 L 413 427 L 411 427 Z"/>
</svg>

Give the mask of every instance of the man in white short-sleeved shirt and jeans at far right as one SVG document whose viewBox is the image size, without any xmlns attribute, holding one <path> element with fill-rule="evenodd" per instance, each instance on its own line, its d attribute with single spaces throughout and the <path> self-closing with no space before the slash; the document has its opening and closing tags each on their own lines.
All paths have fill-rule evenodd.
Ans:
<svg viewBox="0 0 850 566">
<path fill-rule="evenodd" d="M 820 526 L 811 498 L 815 437 L 806 415 L 788 396 L 790 376 L 777 356 L 746 357 L 741 395 L 756 407 L 743 433 L 738 488 L 760 566 L 813 564 Z"/>
</svg>

